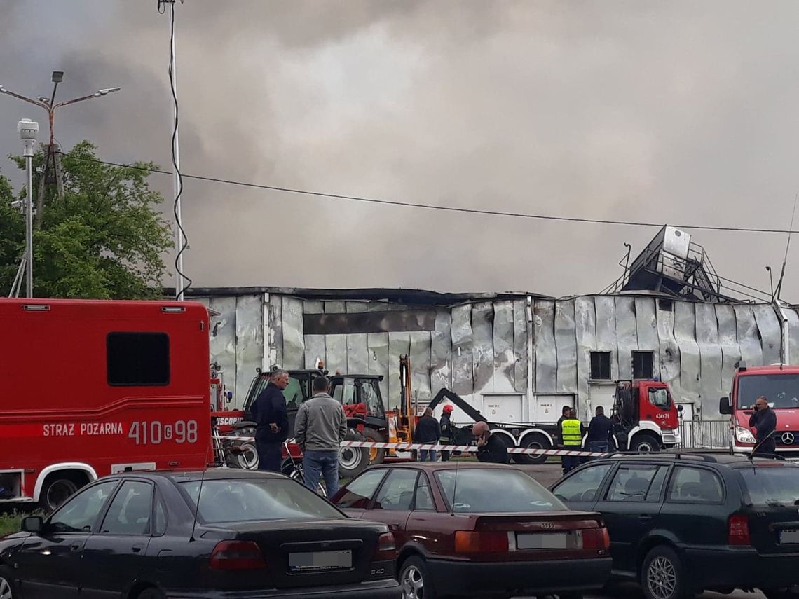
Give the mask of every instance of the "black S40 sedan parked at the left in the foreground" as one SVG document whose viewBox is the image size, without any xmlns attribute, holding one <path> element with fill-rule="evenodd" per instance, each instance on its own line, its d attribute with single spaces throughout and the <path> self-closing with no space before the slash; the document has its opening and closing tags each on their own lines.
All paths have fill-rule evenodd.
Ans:
<svg viewBox="0 0 799 599">
<path fill-rule="evenodd" d="M 388 528 L 282 474 L 101 478 L 23 530 L 0 540 L 3 599 L 400 597 Z"/>
</svg>

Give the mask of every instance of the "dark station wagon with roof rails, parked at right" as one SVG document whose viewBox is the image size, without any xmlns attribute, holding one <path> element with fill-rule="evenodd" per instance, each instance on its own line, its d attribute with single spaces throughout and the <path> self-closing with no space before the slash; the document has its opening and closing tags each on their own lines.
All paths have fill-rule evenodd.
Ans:
<svg viewBox="0 0 799 599">
<path fill-rule="evenodd" d="M 796 597 L 799 466 L 696 452 L 618 455 L 552 486 L 575 510 L 596 510 L 610 531 L 614 577 L 648 599 L 702 590 L 761 589 Z"/>
</svg>

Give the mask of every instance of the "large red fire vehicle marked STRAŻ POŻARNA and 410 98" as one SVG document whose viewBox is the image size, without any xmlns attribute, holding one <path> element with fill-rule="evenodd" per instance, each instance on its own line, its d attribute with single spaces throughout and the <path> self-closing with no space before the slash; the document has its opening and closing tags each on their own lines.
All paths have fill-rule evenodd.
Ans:
<svg viewBox="0 0 799 599">
<path fill-rule="evenodd" d="M 201 303 L 0 300 L 0 502 L 213 460 Z"/>
</svg>

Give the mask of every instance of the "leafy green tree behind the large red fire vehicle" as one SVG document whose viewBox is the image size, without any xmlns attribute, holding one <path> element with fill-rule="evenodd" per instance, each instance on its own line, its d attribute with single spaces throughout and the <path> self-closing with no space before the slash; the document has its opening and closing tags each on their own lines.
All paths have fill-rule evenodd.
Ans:
<svg viewBox="0 0 799 599">
<path fill-rule="evenodd" d="M 149 299 L 161 296 L 162 256 L 170 246 L 169 224 L 149 188 L 152 163 L 129 167 L 97 162 L 95 147 L 82 141 L 62 157 L 64 196 L 49 185 L 41 223 L 34 232 L 34 296 Z M 21 169 L 23 158 L 14 157 Z M 34 173 L 44 165 L 41 151 Z M 38 177 L 34 177 L 34 201 Z M 22 190 L 18 198 L 25 196 Z M 14 192 L 0 176 L 0 290 L 8 295 L 25 247 L 25 220 L 12 208 Z"/>
</svg>

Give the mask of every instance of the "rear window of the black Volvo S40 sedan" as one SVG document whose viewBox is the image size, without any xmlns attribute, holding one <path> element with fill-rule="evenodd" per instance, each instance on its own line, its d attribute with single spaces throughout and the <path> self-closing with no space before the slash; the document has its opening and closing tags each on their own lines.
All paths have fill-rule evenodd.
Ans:
<svg viewBox="0 0 799 599">
<path fill-rule="evenodd" d="M 200 497 L 197 513 L 209 524 L 346 518 L 316 493 L 282 478 L 191 481 L 180 487 L 193 510 Z"/>
</svg>

